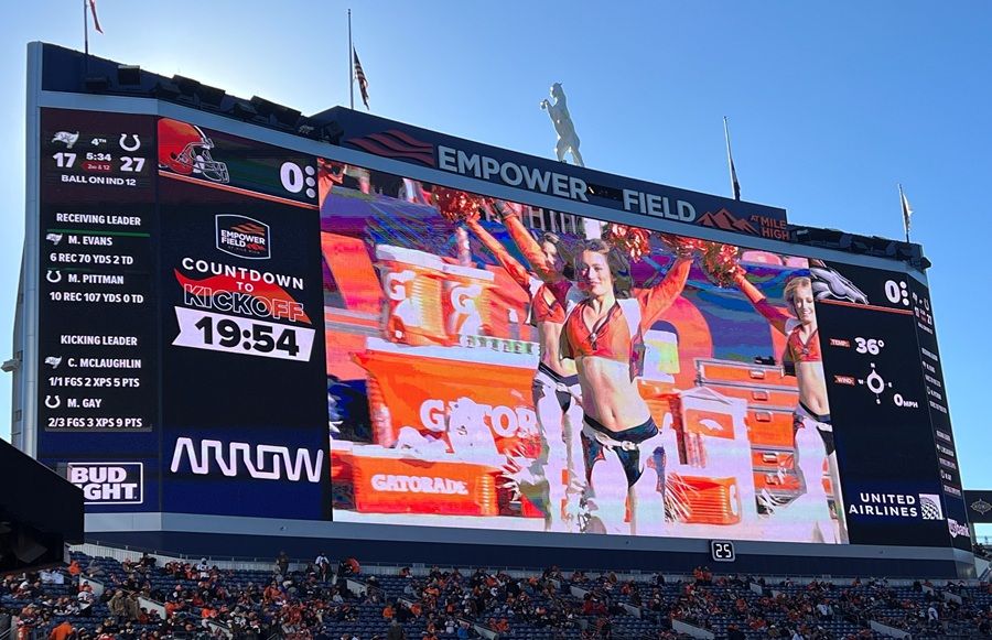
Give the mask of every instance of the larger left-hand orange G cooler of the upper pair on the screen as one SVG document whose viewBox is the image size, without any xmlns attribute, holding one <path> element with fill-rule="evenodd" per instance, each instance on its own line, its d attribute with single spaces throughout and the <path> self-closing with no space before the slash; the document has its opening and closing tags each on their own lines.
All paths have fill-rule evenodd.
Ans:
<svg viewBox="0 0 992 640">
<path fill-rule="evenodd" d="M 405 345 L 446 344 L 441 259 L 424 251 L 377 245 L 376 260 L 386 297 L 382 336 Z"/>
</svg>

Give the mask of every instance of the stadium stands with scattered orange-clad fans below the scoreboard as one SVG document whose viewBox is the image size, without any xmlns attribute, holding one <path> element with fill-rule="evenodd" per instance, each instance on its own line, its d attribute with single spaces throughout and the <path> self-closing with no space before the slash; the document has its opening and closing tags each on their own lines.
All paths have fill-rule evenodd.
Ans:
<svg viewBox="0 0 992 640">
<path fill-rule="evenodd" d="M 197 561 L 118 562 L 78 552 L 72 561 L 40 576 L 0 582 L 0 614 L 18 618 L 12 638 L 46 639 L 63 621 L 76 629 L 73 638 L 95 640 L 373 640 L 387 637 L 391 618 L 408 640 L 664 640 L 710 634 L 822 640 L 903 631 L 914 639 L 963 639 L 988 636 L 992 626 L 992 592 L 977 583 L 765 582 L 713 576 L 702 567 L 692 576 L 664 577 L 590 577 L 556 568 L 363 570 L 348 558 L 321 581 L 314 565 L 305 562 L 292 563 L 280 575 L 276 565 L 235 570 Z M 79 603 L 83 584 L 96 595 L 88 615 L 73 606 Z M 130 609 L 123 594 L 114 599 L 117 590 L 137 596 Z M 155 611 L 165 619 L 157 619 Z"/>
</svg>

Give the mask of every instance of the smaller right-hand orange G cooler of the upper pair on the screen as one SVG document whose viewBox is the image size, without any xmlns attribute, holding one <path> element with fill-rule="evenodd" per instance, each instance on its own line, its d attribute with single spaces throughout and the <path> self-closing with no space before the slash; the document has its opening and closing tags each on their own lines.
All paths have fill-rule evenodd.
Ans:
<svg viewBox="0 0 992 640">
<path fill-rule="evenodd" d="M 457 344 L 461 336 L 490 335 L 488 291 L 495 275 L 485 269 L 444 264 L 444 328 Z"/>
</svg>

